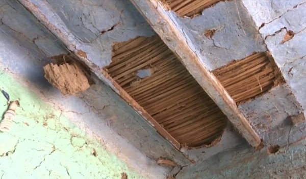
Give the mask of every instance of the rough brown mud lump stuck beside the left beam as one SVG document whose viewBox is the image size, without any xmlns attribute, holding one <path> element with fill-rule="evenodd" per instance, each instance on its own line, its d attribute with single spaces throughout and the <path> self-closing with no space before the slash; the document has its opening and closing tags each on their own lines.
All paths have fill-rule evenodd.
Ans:
<svg viewBox="0 0 306 179">
<path fill-rule="evenodd" d="M 58 88 L 63 95 L 84 92 L 90 86 L 85 72 L 75 62 L 49 63 L 43 67 L 43 70 L 48 82 Z"/>
</svg>

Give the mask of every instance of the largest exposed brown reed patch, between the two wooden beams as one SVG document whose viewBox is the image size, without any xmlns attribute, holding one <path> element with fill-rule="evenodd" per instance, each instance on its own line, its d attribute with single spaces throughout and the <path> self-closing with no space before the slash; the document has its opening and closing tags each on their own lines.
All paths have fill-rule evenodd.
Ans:
<svg viewBox="0 0 306 179">
<path fill-rule="evenodd" d="M 201 146 L 221 135 L 225 115 L 158 36 L 115 44 L 106 70 L 180 144 Z"/>
</svg>

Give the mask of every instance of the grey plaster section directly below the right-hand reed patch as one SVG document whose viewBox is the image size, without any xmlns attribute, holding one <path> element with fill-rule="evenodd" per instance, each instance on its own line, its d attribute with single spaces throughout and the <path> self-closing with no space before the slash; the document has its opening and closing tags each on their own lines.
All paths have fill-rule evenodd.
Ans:
<svg viewBox="0 0 306 179">
<path fill-rule="evenodd" d="M 239 108 L 266 146 L 285 146 L 303 137 L 300 130 L 305 123 L 292 126 L 290 120 L 290 116 L 302 113 L 302 109 L 286 84 L 240 104 Z"/>
</svg>

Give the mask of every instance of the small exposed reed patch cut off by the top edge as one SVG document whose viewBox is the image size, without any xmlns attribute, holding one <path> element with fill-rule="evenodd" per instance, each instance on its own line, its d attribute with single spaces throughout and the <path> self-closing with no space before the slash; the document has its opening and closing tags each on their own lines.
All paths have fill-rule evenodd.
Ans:
<svg viewBox="0 0 306 179">
<path fill-rule="evenodd" d="M 180 16 L 193 17 L 220 0 L 162 0 L 162 2 Z"/>
</svg>

